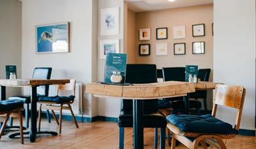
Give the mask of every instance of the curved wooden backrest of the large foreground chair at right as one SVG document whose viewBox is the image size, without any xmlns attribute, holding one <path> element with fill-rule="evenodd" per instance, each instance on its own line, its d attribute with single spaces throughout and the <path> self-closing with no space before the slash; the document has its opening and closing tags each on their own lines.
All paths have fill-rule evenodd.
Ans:
<svg viewBox="0 0 256 149">
<path fill-rule="evenodd" d="M 234 129 L 238 131 L 240 127 L 245 97 L 246 89 L 243 86 L 226 86 L 218 84 L 215 88 L 215 95 L 213 98 L 213 110 L 211 115 L 214 117 L 216 116 L 217 105 L 236 108 L 237 112 Z"/>
</svg>

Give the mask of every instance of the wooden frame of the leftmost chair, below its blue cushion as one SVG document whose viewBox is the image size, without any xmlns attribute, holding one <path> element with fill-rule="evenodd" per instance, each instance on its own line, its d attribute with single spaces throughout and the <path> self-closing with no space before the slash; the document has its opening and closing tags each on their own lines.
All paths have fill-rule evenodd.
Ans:
<svg viewBox="0 0 256 149">
<path fill-rule="evenodd" d="M 5 116 L 5 121 L 3 122 L 3 125 L 1 126 L 0 129 L 0 139 L 3 135 L 3 133 L 5 132 L 5 127 L 7 125 L 7 122 L 9 120 L 9 118 L 20 118 L 20 141 L 22 144 L 24 144 L 24 137 L 23 137 L 23 124 L 22 124 L 22 110 L 24 110 L 24 108 L 16 108 L 14 110 L 10 110 L 10 111 L 5 111 L 5 112 L 0 112 L 1 116 Z"/>
</svg>

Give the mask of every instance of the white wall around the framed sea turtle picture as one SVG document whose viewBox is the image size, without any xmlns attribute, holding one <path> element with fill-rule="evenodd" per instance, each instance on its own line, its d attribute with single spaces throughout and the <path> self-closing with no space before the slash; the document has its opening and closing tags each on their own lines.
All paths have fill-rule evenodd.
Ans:
<svg viewBox="0 0 256 149">
<path fill-rule="evenodd" d="M 96 0 L 22 1 L 22 78 L 31 78 L 35 67 L 52 67 L 52 78 L 75 78 L 86 84 L 96 80 Z M 35 25 L 70 22 L 69 53 L 36 54 Z M 93 26 L 94 25 L 94 26 Z M 85 87 L 85 86 L 84 86 Z M 84 88 L 85 90 L 85 88 Z M 24 90 L 25 94 L 29 90 Z M 84 112 L 94 116 L 91 95 L 84 95 Z"/>
</svg>

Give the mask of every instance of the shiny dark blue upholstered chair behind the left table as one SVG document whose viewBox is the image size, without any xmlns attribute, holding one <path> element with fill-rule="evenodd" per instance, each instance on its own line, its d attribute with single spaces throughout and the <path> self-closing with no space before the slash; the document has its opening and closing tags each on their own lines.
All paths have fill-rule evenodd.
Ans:
<svg viewBox="0 0 256 149">
<path fill-rule="evenodd" d="M 52 68 L 49 67 L 37 67 L 33 72 L 33 79 L 50 79 L 50 75 L 52 74 Z M 49 86 L 39 86 L 37 87 L 37 97 L 48 96 Z M 26 127 L 29 127 L 29 103 L 31 103 L 31 97 L 24 95 L 17 95 L 9 97 L 10 100 L 21 100 L 23 101 L 25 106 L 25 117 L 26 117 Z M 49 118 L 49 116 L 48 116 Z M 10 123 L 12 125 L 12 122 Z"/>
</svg>

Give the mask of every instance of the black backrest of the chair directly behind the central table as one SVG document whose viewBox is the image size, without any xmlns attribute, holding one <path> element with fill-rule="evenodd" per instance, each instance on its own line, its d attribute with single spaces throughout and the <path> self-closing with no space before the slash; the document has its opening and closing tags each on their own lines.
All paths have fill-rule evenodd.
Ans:
<svg viewBox="0 0 256 149">
<path fill-rule="evenodd" d="M 157 82 L 156 65 L 151 64 L 127 64 L 126 82 L 131 84 L 146 84 Z M 121 101 L 121 111 L 132 111 L 132 100 Z M 158 99 L 143 101 L 144 113 L 158 111 Z"/>
</svg>

